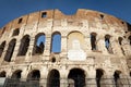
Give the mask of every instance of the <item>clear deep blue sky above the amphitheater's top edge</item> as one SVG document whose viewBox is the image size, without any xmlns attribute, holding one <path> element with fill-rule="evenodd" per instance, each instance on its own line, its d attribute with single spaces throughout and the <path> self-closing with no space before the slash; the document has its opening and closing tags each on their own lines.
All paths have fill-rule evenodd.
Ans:
<svg viewBox="0 0 131 87">
<path fill-rule="evenodd" d="M 90 9 L 115 15 L 131 24 L 131 0 L 0 0 L 0 27 L 22 15 L 59 9 L 74 14 L 78 9 Z"/>
</svg>

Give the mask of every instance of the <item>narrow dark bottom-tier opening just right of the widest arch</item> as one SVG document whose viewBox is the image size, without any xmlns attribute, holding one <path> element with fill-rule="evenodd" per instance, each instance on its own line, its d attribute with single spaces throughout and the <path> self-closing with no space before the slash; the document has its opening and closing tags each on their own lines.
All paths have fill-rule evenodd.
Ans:
<svg viewBox="0 0 131 87">
<path fill-rule="evenodd" d="M 96 70 L 96 84 L 97 84 L 97 87 L 100 87 L 100 82 L 102 82 L 102 77 L 104 75 L 104 71 L 98 69 Z"/>
</svg>

